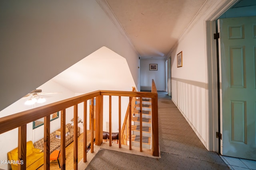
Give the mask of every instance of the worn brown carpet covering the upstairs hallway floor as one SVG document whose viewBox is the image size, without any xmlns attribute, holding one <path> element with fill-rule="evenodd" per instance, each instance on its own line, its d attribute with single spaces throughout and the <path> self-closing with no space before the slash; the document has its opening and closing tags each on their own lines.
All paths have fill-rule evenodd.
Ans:
<svg viewBox="0 0 256 170">
<path fill-rule="evenodd" d="M 205 149 L 166 92 L 158 92 L 158 115 L 160 159 L 101 149 L 86 169 L 229 169 Z"/>
</svg>

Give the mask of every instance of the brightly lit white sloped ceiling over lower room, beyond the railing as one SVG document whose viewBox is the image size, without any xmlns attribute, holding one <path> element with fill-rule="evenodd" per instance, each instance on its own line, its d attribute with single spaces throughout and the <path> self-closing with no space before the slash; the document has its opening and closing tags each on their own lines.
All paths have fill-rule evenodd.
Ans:
<svg viewBox="0 0 256 170">
<path fill-rule="evenodd" d="M 81 94 L 95 90 L 132 91 L 135 87 L 126 59 L 107 47 L 101 47 L 52 80 Z"/>
</svg>

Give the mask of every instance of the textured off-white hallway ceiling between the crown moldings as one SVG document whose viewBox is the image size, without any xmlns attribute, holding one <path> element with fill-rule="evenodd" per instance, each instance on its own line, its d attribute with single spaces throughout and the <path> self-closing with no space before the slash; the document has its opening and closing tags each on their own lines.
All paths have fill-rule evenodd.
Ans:
<svg viewBox="0 0 256 170">
<path fill-rule="evenodd" d="M 106 0 L 142 58 L 165 58 L 206 0 Z"/>
</svg>

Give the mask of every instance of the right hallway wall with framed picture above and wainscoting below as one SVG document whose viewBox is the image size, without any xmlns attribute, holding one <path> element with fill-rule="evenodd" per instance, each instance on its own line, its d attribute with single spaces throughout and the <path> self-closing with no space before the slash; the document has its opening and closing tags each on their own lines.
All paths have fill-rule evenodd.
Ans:
<svg viewBox="0 0 256 170">
<path fill-rule="evenodd" d="M 198 21 L 172 51 L 172 101 L 206 147 L 208 138 L 207 70 L 204 22 Z M 182 67 L 177 54 L 182 51 Z"/>
</svg>

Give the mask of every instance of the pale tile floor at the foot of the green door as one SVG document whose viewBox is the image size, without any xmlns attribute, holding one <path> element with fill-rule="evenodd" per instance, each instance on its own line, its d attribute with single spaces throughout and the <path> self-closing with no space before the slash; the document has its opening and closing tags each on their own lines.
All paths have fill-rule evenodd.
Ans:
<svg viewBox="0 0 256 170">
<path fill-rule="evenodd" d="M 220 156 L 231 170 L 256 170 L 256 161 L 229 156 Z"/>
</svg>

